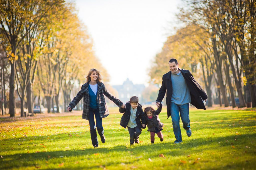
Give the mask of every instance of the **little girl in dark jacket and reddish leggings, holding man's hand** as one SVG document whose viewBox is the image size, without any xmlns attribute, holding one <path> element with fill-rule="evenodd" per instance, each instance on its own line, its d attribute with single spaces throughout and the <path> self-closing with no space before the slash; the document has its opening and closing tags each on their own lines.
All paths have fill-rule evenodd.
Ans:
<svg viewBox="0 0 256 170">
<path fill-rule="evenodd" d="M 155 133 L 157 134 L 158 138 L 160 138 L 160 141 L 163 142 L 164 136 L 161 132 L 163 123 L 160 122 L 160 119 L 158 118 L 158 115 L 160 114 L 162 110 L 163 105 L 160 104 L 160 106 L 157 108 L 157 110 L 153 109 L 151 106 L 148 106 L 144 109 L 144 114 L 147 121 L 147 127 L 150 132 L 150 140 L 151 143 L 155 142 Z"/>
</svg>

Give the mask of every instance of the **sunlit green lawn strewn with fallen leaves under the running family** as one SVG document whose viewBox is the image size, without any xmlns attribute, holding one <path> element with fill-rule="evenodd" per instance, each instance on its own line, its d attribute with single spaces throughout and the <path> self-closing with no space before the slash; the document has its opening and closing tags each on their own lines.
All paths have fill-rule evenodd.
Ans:
<svg viewBox="0 0 256 170">
<path fill-rule="evenodd" d="M 95 149 L 81 112 L 0 118 L 0 169 L 256 169 L 255 111 L 191 109 L 192 136 L 182 129 L 183 143 L 174 145 L 164 108 L 164 141 L 155 136 L 151 144 L 144 129 L 140 143 L 130 146 L 128 130 L 119 125 L 122 114 L 110 108 L 103 118 L 106 143 Z"/>
</svg>

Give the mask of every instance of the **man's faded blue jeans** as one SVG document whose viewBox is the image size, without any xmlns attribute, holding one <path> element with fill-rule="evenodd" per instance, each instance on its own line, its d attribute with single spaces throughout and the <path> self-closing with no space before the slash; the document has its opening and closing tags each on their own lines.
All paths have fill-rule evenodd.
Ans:
<svg viewBox="0 0 256 170">
<path fill-rule="evenodd" d="M 173 122 L 173 132 L 177 142 L 182 142 L 181 131 L 179 126 L 179 114 L 181 117 L 181 121 L 183 123 L 183 128 L 185 130 L 189 130 L 190 128 L 190 120 L 189 120 L 189 108 L 188 103 L 184 105 L 176 105 L 171 102 L 171 117 Z"/>
</svg>

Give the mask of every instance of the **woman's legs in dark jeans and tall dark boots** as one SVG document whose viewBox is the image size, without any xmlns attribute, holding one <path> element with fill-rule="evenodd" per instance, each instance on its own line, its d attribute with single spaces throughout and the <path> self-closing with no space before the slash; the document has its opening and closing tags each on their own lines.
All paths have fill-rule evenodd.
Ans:
<svg viewBox="0 0 256 170">
<path fill-rule="evenodd" d="M 95 115 L 96 125 L 94 122 L 94 115 Z M 98 130 L 98 133 L 100 135 L 102 143 L 105 143 L 104 130 L 103 130 L 103 126 L 102 126 L 102 119 L 100 117 L 99 108 L 97 108 L 97 109 L 90 108 L 89 109 L 89 119 L 88 120 L 89 120 L 89 125 L 90 125 L 92 145 L 95 148 L 95 147 L 98 147 L 98 145 L 99 145 L 96 128 Z"/>
</svg>

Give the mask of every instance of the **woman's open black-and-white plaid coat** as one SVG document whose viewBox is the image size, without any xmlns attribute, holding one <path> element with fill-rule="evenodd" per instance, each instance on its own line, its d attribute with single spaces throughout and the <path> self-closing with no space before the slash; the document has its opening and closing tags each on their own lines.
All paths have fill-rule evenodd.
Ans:
<svg viewBox="0 0 256 170">
<path fill-rule="evenodd" d="M 105 102 L 104 95 L 112 100 L 118 107 L 123 105 L 123 102 L 113 96 L 109 91 L 106 89 L 105 85 L 102 82 L 97 82 L 98 89 L 96 93 L 97 104 L 99 107 L 100 117 L 104 118 L 109 115 L 109 110 Z M 103 95 L 104 94 L 104 95 Z M 89 95 L 89 82 L 82 85 L 81 90 L 77 93 L 77 96 L 69 103 L 69 107 L 73 109 L 78 102 L 83 97 L 83 115 L 82 119 L 89 119 L 89 108 L 90 108 L 90 95 Z"/>
</svg>

